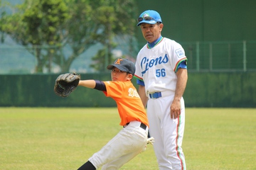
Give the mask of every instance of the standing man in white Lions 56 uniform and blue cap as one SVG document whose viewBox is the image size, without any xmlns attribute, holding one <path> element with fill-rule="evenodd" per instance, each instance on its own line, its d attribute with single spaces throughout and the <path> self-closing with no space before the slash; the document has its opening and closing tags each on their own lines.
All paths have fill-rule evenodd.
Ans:
<svg viewBox="0 0 256 170">
<path fill-rule="evenodd" d="M 134 77 L 147 106 L 159 169 L 186 169 L 181 148 L 185 125 L 182 96 L 188 79 L 185 52 L 180 44 L 161 36 L 164 24 L 157 11 L 144 11 L 137 26 L 147 43 L 137 55 Z"/>
</svg>

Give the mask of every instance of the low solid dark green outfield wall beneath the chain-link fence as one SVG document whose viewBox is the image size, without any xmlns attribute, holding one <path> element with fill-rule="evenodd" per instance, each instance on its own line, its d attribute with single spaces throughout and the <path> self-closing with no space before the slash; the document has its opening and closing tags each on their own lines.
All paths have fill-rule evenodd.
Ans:
<svg viewBox="0 0 256 170">
<path fill-rule="evenodd" d="M 0 106 L 114 107 L 102 91 L 78 87 L 67 98 L 53 92 L 58 74 L 0 75 Z M 110 80 L 110 73 L 81 74 L 82 79 Z M 136 80 L 132 79 L 136 86 Z M 256 107 L 256 72 L 188 73 L 186 107 Z"/>
</svg>

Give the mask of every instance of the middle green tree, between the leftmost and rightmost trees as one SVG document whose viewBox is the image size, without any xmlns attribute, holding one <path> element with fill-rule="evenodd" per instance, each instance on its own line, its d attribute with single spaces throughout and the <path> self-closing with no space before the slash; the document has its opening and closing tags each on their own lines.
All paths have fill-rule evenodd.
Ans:
<svg viewBox="0 0 256 170">
<path fill-rule="evenodd" d="M 89 0 L 66 0 L 69 6 L 70 19 L 63 28 L 63 47 L 68 47 L 72 52 L 65 57 L 63 49 L 55 57 L 63 72 L 68 72 L 70 65 L 89 47 L 97 43 L 100 33 L 100 23 L 95 22 L 95 10 Z"/>
</svg>

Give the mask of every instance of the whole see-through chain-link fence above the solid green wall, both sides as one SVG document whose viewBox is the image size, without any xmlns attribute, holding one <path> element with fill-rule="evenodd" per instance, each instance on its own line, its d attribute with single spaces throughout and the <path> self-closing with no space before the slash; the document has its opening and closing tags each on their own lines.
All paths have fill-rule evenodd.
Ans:
<svg viewBox="0 0 256 170">
<path fill-rule="evenodd" d="M 256 41 L 180 43 L 188 57 L 189 72 L 256 72 Z M 95 63 L 92 61 L 92 56 L 96 55 L 97 50 L 100 49 L 102 47 L 95 45 L 82 53 L 70 65 L 70 72 L 97 72 L 90 65 Z M 36 73 L 38 60 L 31 51 L 31 49 L 28 50 L 27 47 L 20 45 L 0 45 L 0 74 Z M 63 51 L 63 55 L 68 53 L 68 49 Z M 115 57 L 129 57 L 128 53 L 129 49 L 124 47 L 113 50 Z M 135 57 L 132 57 L 133 61 L 135 61 Z M 53 61 L 51 59 L 46 60 L 48 62 Z M 43 73 L 60 72 L 58 63 L 53 62 L 50 65 L 52 68 L 49 70 L 49 68 L 44 67 Z"/>
</svg>

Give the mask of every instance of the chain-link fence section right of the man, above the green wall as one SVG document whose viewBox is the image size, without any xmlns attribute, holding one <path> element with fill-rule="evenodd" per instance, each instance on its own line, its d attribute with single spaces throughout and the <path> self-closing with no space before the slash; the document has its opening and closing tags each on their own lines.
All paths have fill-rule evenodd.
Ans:
<svg viewBox="0 0 256 170">
<path fill-rule="evenodd" d="M 255 72 L 256 41 L 184 42 L 193 72 Z"/>
</svg>

